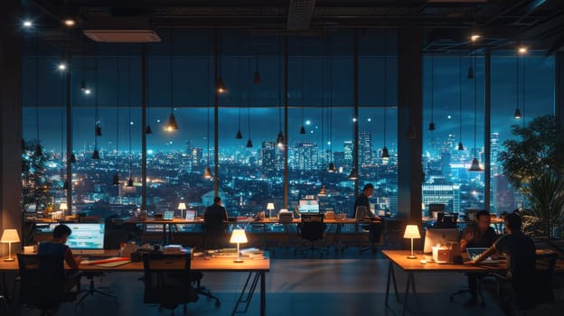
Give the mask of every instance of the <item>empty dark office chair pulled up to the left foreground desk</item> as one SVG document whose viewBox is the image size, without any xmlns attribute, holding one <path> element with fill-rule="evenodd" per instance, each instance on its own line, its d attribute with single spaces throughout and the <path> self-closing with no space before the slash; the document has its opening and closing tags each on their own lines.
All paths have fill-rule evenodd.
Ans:
<svg viewBox="0 0 564 316">
<path fill-rule="evenodd" d="M 193 288 L 190 271 L 190 253 L 146 254 L 143 256 L 145 291 L 143 302 L 158 304 L 159 310 L 169 309 L 174 313 L 178 305 L 198 300 L 198 291 Z"/>
</svg>

